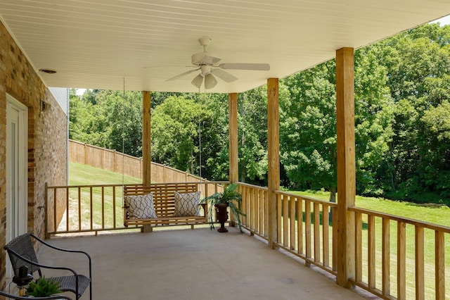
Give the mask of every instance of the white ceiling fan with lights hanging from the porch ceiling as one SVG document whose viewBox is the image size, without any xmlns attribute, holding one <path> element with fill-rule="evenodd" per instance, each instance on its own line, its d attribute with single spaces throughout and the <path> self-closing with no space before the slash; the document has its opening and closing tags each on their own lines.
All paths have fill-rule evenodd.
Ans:
<svg viewBox="0 0 450 300">
<path fill-rule="evenodd" d="M 221 60 L 220 58 L 207 55 L 206 47 L 210 44 L 211 39 L 203 37 L 198 39 L 198 42 L 200 42 L 200 45 L 203 46 L 203 52 L 193 54 L 191 57 L 193 67 L 195 69 L 188 70 L 187 72 L 176 75 L 166 81 L 177 80 L 200 70 L 200 74 L 195 76 L 192 80 L 192 85 L 200 89 L 203 82 L 205 82 L 205 89 L 212 89 L 217 85 L 217 80 L 214 75 L 219 77 L 221 80 L 224 80 L 224 82 L 233 82 L 238 80 L 237 77 L 231 75 L 225 70 L 270 70 L 270 65 L 268 63 L 219 63 Z"/>
</svg>

